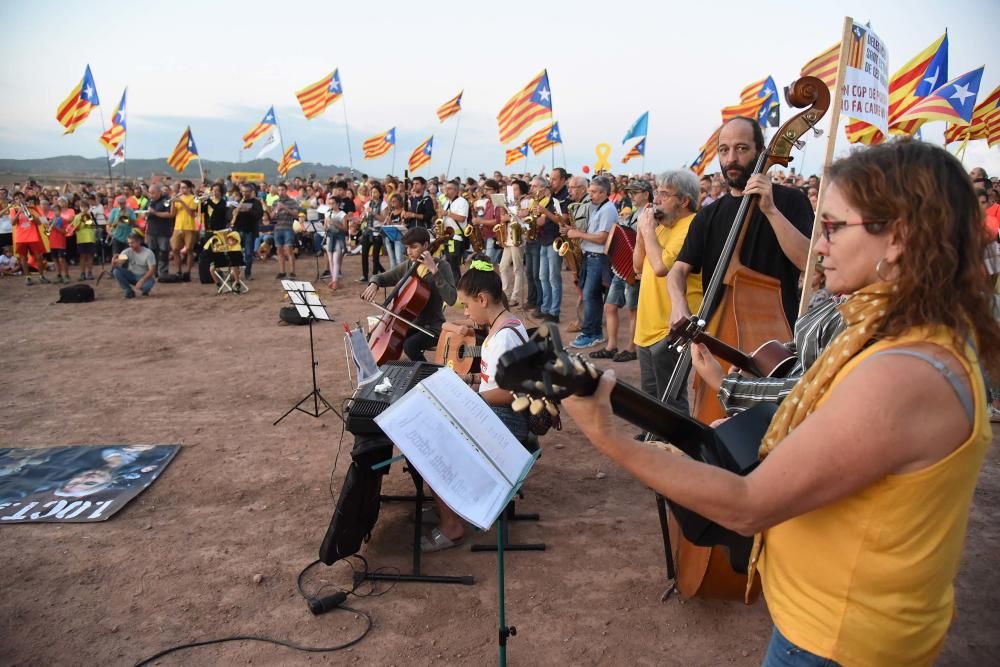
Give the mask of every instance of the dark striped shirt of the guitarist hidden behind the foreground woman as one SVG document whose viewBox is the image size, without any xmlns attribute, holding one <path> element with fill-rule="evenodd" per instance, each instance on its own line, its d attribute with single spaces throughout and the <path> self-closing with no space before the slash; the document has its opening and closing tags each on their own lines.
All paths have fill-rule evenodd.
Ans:
<svg viewBox="0 0 1000 667">
<path fill-rule="evenodd" d="M 795 365 L 783 378 L 748 378 L 730 373 L 722 379 L 719 401 L 727 415 L 735 415 L 758 403 L 781 403 L 799 379 L 823 354 L 823 350 L 843 331 L 844 319 L 838 306 L 846 296 L 827 296 L 795 322 L 795 340 L 789 345 Z"/>
</svg>

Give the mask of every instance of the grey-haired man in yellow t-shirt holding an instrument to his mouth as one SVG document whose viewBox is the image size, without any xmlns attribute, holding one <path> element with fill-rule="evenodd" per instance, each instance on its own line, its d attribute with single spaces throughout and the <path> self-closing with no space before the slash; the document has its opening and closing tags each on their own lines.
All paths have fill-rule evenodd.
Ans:
<svg viewBox="0 0 1000 667">
<path fill-rule="evenodd" d="M 668 171 L 660 176 L 653 195 L 654 206 L 647 207 L 639 216 L 632 252 L 632 263 L 641 272 L 634 340 L 642 390 L 657 398 L 662 398 L 678 360 L 677 353 L 667 344 L 670 333 L 667 273 L 684 245 L 699 199 L 698 177 L 693 172 Z M 661 215 L 659 221 L 653 209 Z M 691 312 L 701 308 L 701 295 L 701 274 L 691 274 L 687 282 Z M 674 405 L 687 411 L 687 383 Z"/>
</svg>

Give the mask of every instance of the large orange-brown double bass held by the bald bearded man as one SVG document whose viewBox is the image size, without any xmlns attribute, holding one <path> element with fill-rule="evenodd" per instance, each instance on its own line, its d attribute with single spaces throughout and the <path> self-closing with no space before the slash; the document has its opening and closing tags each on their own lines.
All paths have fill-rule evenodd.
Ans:
<svg viewBox="0 0 1000 667">
<path fill-rule="evenodd" d="M 805 109 L 788 120 L 754 165 L 754 174 L 764 174 L 775 165 L 788 166 L 792 148 L 801 147 L 800 137 L 815 129 L 830 106 L 830 90 L 816 77 L 806 76 L 785 92 L 789 105 Z M 736 219 L 726 237 L 719 263 L 705 287 L 699 319 L 708 322 L 705 331 L 723 343 L 753 350 L 770 340 L 789 340 L 792 331 L 781 301 L 781 284 L 776 278 L 747 268 L 740 261 L 740 250 L 750 220 L 757 210 L 756 196 L 743 197 Z M 677 362 L 667 386 L 666 396 L 676 399 L 687 382 L 691 369 L 690 348 Z M 718 399 L 708 386 L 695 378 L 691 392 L 692 416 L 703 424 L 724 417 Z M 657 495 L 661 524 L 665 515 L 664 499 Z M 670 504 L 670 501 L 666 501 Z M 669 517 L 668 571 L 676 565 L 675 587 L 687 598 L 706 597 L 742 600 L 752 603 L 760 595 L 760 581 L 755 575 L 747 586 L 746 572 L 733 569 L 724 548 L 700 547 L 684 538 L 674 512 Z M 667 546 L 667 535 L 664 535 Z M 669 573 L 669 572 L 668 572 Z"/>
</svg>

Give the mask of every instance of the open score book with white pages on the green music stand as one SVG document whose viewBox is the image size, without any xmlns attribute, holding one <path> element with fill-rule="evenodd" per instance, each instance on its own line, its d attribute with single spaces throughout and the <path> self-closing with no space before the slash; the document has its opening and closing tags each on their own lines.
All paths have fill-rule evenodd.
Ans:
<svg viewBox="0 0 1000 667">
<path fill-rule="evenodd" d="M 493 525 L 538 458 L 449 368 L 407 392 L 375 423 L 435 495 L 481 530 Z"/>
</svg>

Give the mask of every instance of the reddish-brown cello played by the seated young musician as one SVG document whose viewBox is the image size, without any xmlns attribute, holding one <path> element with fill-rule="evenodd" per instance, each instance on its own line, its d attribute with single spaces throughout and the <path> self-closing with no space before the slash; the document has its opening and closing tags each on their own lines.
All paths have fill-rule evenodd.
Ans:
<svg viewBox="0 0 1000 667">
<path fill-rule="evenodd" d="M 432 240 L 430 253 L 433 255 L 448 239 L 442 236 Z M 414 262 L 389 292 L 385 302 L 381 306 L 376 304 L 382 316 L 368 335 L 368 347 L 379 366 L 399 359 L 403 355 L 403 341 L 410 335 L 410 327 L 420 329 L 413 321 L 420 316 L 431 297 L 431 286 L 420 275 L 422 266 L 419 261 Z M 420 330 L 433 336 L 429 331 Z"/>
</svg>

